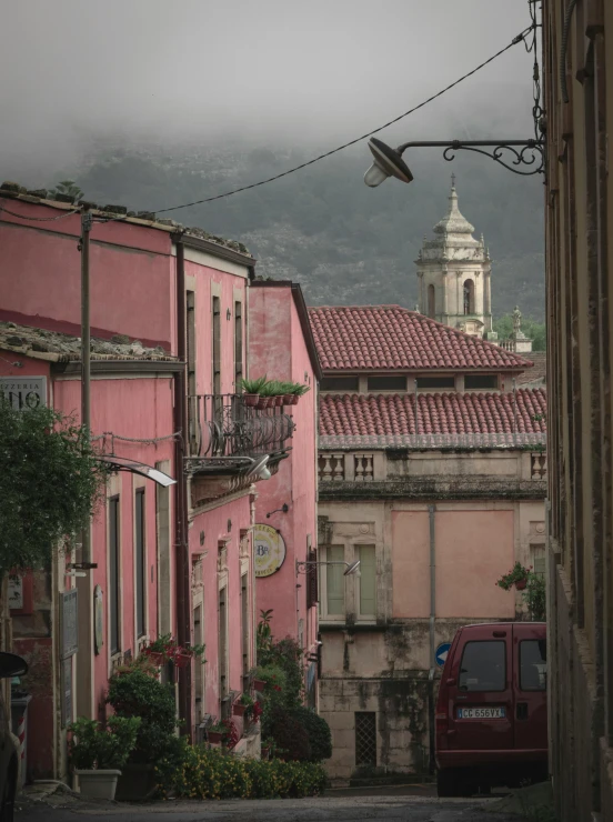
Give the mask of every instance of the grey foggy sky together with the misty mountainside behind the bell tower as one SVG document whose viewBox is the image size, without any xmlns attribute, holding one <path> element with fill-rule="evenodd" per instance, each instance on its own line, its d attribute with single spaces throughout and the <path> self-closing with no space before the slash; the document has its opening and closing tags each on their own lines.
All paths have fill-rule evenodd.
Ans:
<svg viewBox="0 0 613 822">
<path fill-rule="evenodd" d="M 210 197 L 376 128 L 529 22 L 525 0 L 8 2 L 0 177 L 74 179 L 88 198 L 137 210 Z M 380 137 L 530 137 L 531 77 L 520 43 Z M 542 181 L 476 156 L 446 163 L 423 149 L 405 159 L 411 186 L 366 189 L 361 142 L 168 217 L 243 241 L 260 273 L 301 282 L 310 303 L 412 307 L 413 261 L 446 210 L 454 170 L 460 208 L 494 259 L 494 311 L 517 302 L 542 318 Z"/>
</svg>

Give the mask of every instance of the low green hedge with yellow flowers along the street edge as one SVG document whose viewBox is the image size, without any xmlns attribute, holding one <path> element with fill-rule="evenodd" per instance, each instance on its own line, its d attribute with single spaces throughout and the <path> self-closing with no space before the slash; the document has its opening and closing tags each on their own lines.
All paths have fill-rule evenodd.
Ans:
<svg viewBox="0 0 613 822">
<path fill-rule="evenodd" d="M 160 794 L 180 799 L 301 798 L 326 785 L 319 764 L 239 759 L 204 745 L 187 748 L 173 772 L 163 768 L 157 769 Z"/>
</svg>

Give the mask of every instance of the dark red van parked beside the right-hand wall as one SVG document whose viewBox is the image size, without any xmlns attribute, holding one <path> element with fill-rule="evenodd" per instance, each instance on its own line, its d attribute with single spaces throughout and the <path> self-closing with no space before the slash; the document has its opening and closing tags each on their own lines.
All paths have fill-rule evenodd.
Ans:
<svg viewBox="0 0 613 822">
<path fill-rule="evenodd" d="M 458 631 L 436 703 L 440 796 L 546 779 L 546 664 L 544 622 Z"/>
</svg>

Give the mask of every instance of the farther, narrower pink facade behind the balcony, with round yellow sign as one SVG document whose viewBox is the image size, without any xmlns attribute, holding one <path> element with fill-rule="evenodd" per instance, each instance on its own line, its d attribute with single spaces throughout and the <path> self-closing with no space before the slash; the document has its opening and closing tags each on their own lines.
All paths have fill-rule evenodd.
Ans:
<svg viewBox="0 0 613 822">
<path fill-rule="evenodd" d="M 253 377 L 274 375 L 310 388 L 292 407 L 295 432 L 279 473 L 258 489 L 255 551 L 258 610 L 273 610 L 275 639 L 291 636 L 305 652 L 305 692 L 316 705 L 319 659 L 316 565 L 316 401 L 321 369 L 299 285 L 289 281 L 255 280 L 249 291 L 249 370 Z M 263 527 L 264 539 L 258 534 Z M 269 529 L 284 547 L 281 564 L 268 559 Z M 273 534 L 274 539 L 274 534 Z M 277 538 L 278 539 L 278 538 Z M 311 570 L 311 573 L 309 573 Z"/>
</svg>

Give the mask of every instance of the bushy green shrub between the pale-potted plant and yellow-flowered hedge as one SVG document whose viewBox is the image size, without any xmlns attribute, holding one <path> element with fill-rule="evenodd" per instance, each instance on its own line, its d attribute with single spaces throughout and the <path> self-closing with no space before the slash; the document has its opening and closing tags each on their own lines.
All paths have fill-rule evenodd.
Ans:
<svg viewBox="0 0 613 822">
<path fill-rule="evenodd" d="M 162 684 L 134 664 L 111 676 L 107 702 L 118 716 L 141 719 L 130 762 L 150 764 L 160 755 L 180 754 L 183 743 L 175 736 L 179 722 L 171 684 Z"/>
</svg>

